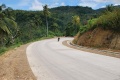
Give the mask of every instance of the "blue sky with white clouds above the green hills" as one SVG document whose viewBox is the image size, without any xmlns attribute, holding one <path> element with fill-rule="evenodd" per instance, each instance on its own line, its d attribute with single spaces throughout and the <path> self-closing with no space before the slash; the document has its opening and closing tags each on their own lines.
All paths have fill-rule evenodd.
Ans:
<svg viewBox="0 0 120 80">
<path fill-rule="evenodd" d="M 49 8 L 57 6 L 89 6 L 98 9 L 108 4 L 119 5 L 120 0 L 0 0 L 1 4 L 22 10 L 42 10 L 42 6 L 45 4 Z"/>
</svg>

